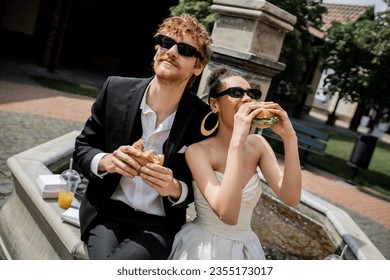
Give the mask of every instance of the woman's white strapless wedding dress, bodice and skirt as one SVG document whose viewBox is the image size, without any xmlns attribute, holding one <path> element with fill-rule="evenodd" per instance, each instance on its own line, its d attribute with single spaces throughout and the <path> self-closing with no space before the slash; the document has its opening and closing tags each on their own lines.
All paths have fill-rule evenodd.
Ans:
<svg viewBox="0 0 390 280">
<path fill-rule="evenodd" d="M 222 181 L 223 173 L 215 172 Z M 196 218 L 183 225 L 176 234 L 172 252 L 173 260 L 265 260 L 257 235 L 252 231 L 253 209 L 262 193 L 262 182 L 256 173 L 242 190 L 238 223 L 223 223 L 199 191 L 195 182 Z"/>
</svg>

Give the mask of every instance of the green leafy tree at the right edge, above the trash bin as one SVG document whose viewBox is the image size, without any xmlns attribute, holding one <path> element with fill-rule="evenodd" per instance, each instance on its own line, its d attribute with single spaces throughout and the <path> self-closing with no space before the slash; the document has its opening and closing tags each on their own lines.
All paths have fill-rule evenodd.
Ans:
<svg viewBox="0 0 390 280">
<path fill-rule="evenodd" d="M 371 129 L 390 108 L 390 11 L 373 16 L 370 9 L 355 23 L 334 23 L 328 31 L 324 69 L 327 94 L 358 102 L 377 114 Z M 335 118 L 337 106 L 329 119 Z"/>
</svg>

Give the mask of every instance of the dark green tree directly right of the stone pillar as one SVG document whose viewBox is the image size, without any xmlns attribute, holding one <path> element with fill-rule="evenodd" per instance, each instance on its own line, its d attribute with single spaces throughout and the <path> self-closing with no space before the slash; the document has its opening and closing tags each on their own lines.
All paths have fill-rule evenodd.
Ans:
<svg viewBox="0 0 390 280">
<path fill-rule="evenodd" d="M 294 30 L 286 34 L 279 59 L 286 64 L 286 68 L 273 78 L 268 96 L 270 99 L 282 98 L 301 102 L 307 94 L 312 93 L 307 67 L 321 54 L 321 45 L 315 43 L 309 27 L 319 28 L 322 25 L 322 14 L 326 12 L 326 8 L 321 6 L 322 0 L 268 2 L 297 17 Z"/>
</svg>

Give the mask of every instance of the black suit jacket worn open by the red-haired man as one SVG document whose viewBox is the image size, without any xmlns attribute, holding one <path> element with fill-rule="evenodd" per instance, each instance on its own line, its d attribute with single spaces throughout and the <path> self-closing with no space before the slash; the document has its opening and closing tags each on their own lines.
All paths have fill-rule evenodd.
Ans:
<svg viewBox="0 0 390 280">
<path fill-rule="evenodd" d="M 89 184 L 80 206 L 81 239 L 86 241 L 101 207 L 111 197 L 121 176 L 107 174 L 104 178 L 90 171 L 90 162 L 100 152 L 112 153 L 121 145 L 131 145 L 142 137 L 142 97 L 152 78 L 109 77 L 94 102 L 91 116 L 81 134 L 76 138 L 74 160 Z M 163 146 L 164 166 L 172 169 L 176 179 L 185 182 L 189 194 L 185 203 L 172 206 L 163 197 L 166 216 L 174 232 L 185 223 L 186 206 L 193 201 L 192 176 L 186 164 L 184 153 L 178 153 L 184 146 L 204 139 L 200 125 L 210 111 L 209 106 L 195 94 L 185 91 L 179 102 L 172 129 Z"/>
</svg>

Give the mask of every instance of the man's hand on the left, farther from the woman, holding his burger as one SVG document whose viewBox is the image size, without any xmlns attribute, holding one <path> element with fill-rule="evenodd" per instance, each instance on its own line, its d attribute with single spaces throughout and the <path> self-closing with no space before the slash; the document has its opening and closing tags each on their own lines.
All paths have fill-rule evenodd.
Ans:
<svg viewBox="0 0 390 280">
<path fill-rule="evenodd" d="M 119 173 L 122 176 L 134 178 L 139 175 L 141 165 L 133 158 L 139 157 L 141 152 L 132 146 L 120 146 L 112 154 L 107 154 L 99 162 L 98 171 Z"/>
</svg>

